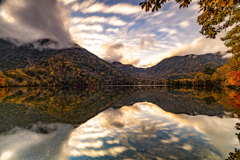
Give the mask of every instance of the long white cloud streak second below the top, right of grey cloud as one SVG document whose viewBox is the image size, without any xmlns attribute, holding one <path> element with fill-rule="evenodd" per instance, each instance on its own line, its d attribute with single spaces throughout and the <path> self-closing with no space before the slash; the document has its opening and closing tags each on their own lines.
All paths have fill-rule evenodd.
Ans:
<svg viewBox="0 0 240 160">
<path fill-rule="evenodd" d="M 92 16 L 92 17 L 74 17 L 71 18 L 71 22 L 74 24 L 77 23 L 107 23 L 113 26 L 124 26 L 127 22 L 119 19 L 118 17 L 99 17 L 99 16 Z"/>
</svg>

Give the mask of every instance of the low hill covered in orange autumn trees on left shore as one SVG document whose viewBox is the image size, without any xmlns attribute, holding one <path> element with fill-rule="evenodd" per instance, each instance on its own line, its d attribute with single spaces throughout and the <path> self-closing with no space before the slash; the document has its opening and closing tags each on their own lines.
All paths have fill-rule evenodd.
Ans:
<svg viewBox="0 0 240 160">
<path fill-rule="evenodd" d="M 0 72 L 0 86 L 96 85 L 97 80 L 72 62 L 57 56 L 27 69 Z"/>
</svg>

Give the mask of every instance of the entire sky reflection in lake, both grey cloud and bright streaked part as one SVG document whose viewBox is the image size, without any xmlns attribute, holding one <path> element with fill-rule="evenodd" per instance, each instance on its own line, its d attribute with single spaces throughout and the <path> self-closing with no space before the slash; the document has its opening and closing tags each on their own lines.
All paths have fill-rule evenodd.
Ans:
<svg viewBox="0 0 240 160">
<path fill-rule="evenodd" d="M 48 134 L 16 127 L 0 135 L 0 159 L 223 159 L 238 144 L 238 121 L 142 102 L 110 108 L 73 131 L 63 124 L 48 125 Z"/>
</svg>

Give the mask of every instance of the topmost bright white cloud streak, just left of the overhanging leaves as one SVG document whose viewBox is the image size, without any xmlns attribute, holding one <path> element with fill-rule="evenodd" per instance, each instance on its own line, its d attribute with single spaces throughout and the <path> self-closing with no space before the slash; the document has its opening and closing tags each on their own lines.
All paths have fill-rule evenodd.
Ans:
<svg viewBox="0 0 240 160">
<path fill-rule="evenodd" d="M 75 8 L 76 9 L 76 8 Z M 88 8 L 82 9 L 83 13 L 115 13 L 121 15 L 131 15 L 142 12 L 139 6 L 134 6 L 129 3 L 118 3 L 112 6 L 105 5 L 104 3 L 95 3 Z"/>
</svg>

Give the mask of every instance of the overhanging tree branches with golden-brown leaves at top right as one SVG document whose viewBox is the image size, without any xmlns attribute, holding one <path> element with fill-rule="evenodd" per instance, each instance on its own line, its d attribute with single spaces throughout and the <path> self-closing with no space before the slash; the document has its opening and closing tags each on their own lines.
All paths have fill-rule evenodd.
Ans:
<svg viewBox="0 0 240 160">
<path fill-rule="evenodd" d="M 175 0 L 179 3 L 179 8 L 190 5 L 192 0 Z M 146 12 L 158 11 L 167 0 L 145 0 L 141 2 L 142 9 Z M 202 25 L 201 34 L 207 38 L 216 38 L 222 30 L 232 27 L 225 37 L 225 45 L 229 47 L 228 53 L 233 53 L 235 59 L 240 61 L 240 0 L 199 0 L 201 15 L 197 22 Z"/>
</svg>

